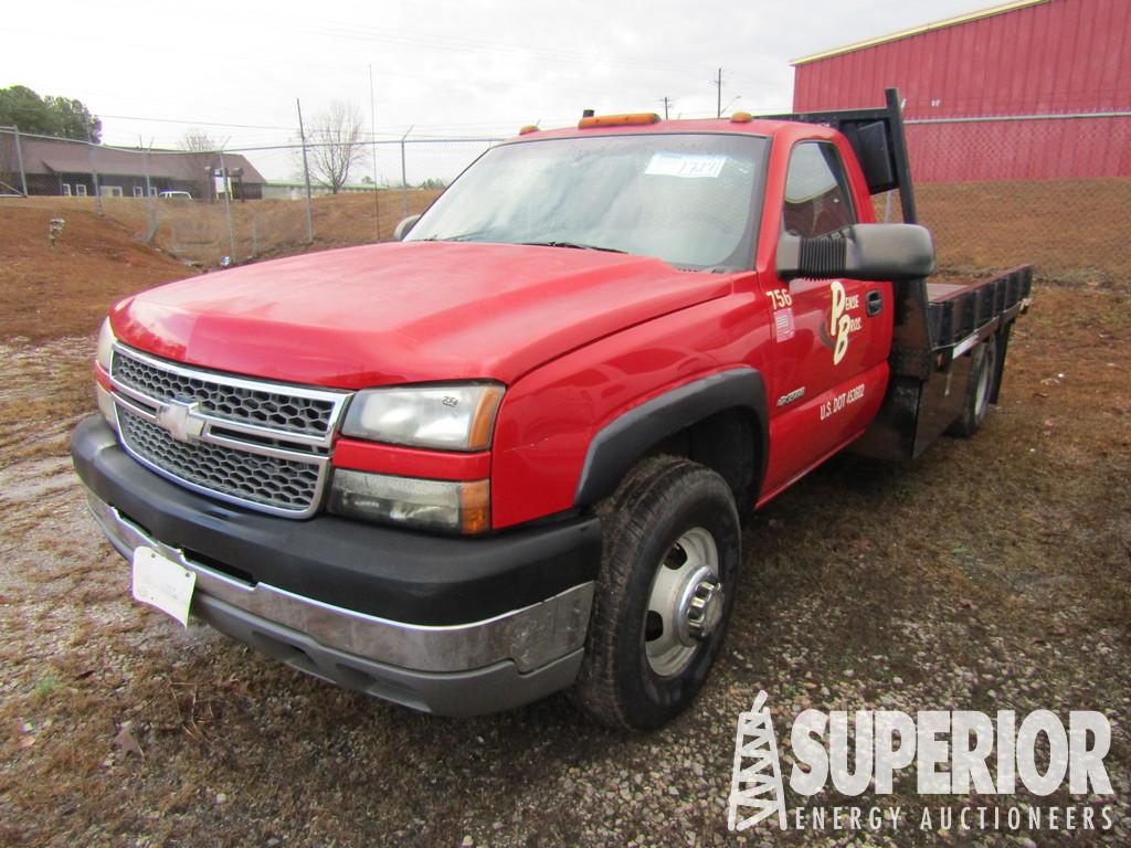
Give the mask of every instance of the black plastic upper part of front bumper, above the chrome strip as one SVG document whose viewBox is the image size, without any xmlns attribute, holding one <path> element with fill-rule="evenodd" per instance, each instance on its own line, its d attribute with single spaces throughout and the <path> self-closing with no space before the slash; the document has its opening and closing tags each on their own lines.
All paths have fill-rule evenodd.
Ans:
<svg viewBox="0 0 1131 848">
<path fill-rule="evenodd" d="M 592 581 L 596 518 L 449 538 L 334 516 L 295 521 L 219 503 L 141 467 L 98 416 L 71 440 L 86 486 L 190 559 L 249 583 L 414 625 L 483 621 Z"/>
</svg>

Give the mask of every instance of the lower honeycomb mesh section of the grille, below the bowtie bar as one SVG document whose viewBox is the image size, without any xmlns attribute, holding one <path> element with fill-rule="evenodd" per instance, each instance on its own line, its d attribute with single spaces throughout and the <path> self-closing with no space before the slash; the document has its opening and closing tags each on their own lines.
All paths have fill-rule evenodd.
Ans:
<svg viewBox="0 0 1131 848">
<path fill-rule="evenodd" d="M 187 483 L 291 512 L 305 512 L 314 503 L 320 483 L 317 465 L 179 442 L 164 427 L 124 408 L 118 410 L 118 423 L 136 453 Z"/>
</svg>

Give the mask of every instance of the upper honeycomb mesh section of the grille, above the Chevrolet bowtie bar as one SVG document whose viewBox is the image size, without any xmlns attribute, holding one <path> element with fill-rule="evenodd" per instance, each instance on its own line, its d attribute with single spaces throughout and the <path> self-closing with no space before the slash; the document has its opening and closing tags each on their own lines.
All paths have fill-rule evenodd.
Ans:
<svg viewBox="0 0 1131 848">
<path fill-rule="evenodd" d="M 113 358 L 112 377 L 154 400 L 195 400 L 217 418 L 288 433 L 326 436 L 334 417 L 334 400 L 202 379 L 153 364 L 122 349 Z"/>
</svg>

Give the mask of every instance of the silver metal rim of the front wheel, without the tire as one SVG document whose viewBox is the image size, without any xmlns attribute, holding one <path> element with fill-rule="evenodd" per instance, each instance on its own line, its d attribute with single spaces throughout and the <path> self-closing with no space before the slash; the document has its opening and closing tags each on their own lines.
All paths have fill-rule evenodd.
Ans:
<svg viewBox="0 0 1131 848">
<path fill-rule="evenodd" d="M 693 527 L 667 551 L 656 569 L 645 612 L 645 655 L 661 677 L 682 673 L 723 618 L 718 546 Z"/>
</svg>

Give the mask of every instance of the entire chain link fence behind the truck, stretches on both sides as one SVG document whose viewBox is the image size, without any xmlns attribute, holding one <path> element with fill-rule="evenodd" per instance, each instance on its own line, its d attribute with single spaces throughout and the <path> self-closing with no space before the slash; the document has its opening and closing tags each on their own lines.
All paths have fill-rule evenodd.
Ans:
<svg viewBox="0 0 1131 848">
<path fill-rule="evenodd" d="M 1131 113 L 909 121 L 920 220 L 961 272 L 1034 262 L 1086 285 L 1131 279 Z M 187 262 L 218 267 L 389 240 L 499 139 L 403 138 L 206 152 L 113 148 L 0 128 L 0 194 L 88 207 Z M 337 193 L 317 154 L 345 154 Z M 360 176 L 364 175 L 364 176 Z M 363 181 L 362 181 L 363 180 Z M 895 193 L 875 198 L 899 220 Z"/>
</svg>

